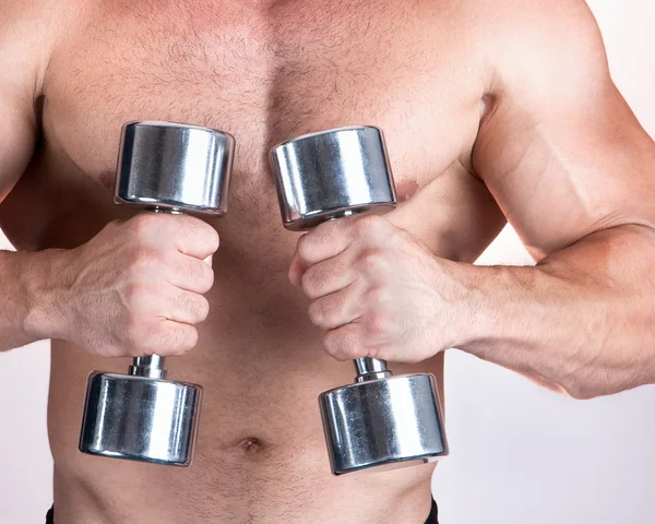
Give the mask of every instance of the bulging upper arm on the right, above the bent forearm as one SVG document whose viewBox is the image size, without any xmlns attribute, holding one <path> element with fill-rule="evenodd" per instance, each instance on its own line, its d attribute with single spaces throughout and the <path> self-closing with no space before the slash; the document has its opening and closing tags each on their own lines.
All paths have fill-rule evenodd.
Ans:
<svg viewBox="0 0 655 524">
<path fill-rule="evenodd" d="M 610 79 L 595 22 L 581 12 L 577 24 L 533 36 L 500 67 L 474 150 L 537 260 L 595 230 L 655 225 L 655 146 Z"/>
</svg>

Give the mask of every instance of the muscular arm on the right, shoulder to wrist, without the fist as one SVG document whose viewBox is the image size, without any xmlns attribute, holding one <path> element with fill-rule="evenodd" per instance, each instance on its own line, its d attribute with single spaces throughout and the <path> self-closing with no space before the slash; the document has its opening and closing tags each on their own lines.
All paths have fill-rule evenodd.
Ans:
<svg viewBox="0 0 655 524">
<path fill-rule="evenodd" d="M 584 2 L 514 3 L 474 165 L 538 263 L 460 275 L 464 349 L 576 397 L 655 382 L 655 145 Z"/>
</svg>

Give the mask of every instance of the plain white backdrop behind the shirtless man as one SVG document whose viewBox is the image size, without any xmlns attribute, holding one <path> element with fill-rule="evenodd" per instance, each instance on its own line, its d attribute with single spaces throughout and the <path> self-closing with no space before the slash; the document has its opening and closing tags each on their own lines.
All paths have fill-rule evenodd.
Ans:
<svg viewBox="0 0 655 524">
<path fill-rule="evenodd" d="M 655 136 L 655 3 L 588 3 L 615 81 Z M 483 260 L 528 258 L 505 230 Z M 655 388 L 577 402 L 460 353 L 446 360 L 451 456 L 433 483 L 441 522 L 655 523 Z M 2 524 L 41 523 L 52 500 L 48 366 L 45 342 L 0 355 Z"/>
</svg>

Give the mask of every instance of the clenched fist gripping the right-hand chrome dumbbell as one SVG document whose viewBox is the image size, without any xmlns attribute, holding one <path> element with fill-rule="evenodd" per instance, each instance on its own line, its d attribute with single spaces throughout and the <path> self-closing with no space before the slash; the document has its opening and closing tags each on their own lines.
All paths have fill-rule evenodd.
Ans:
<svg viewBox="0 0 655 524">
<path fill-rule="evenodd" d="M 302 236 L 289 278 L 333 357 L 417 362 L 463 342 L 472 319 L 456 266 L 388 219 L 359 216 Z"/>
</svg>

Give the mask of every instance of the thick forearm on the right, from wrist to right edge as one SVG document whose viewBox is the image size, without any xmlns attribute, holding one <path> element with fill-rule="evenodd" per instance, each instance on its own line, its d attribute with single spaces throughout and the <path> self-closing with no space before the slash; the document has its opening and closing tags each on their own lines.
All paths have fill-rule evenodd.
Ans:
<svg viewBox="0 0 655 524">
<path fill-rule="evenodd" d="M 655 231 L 598 231 L 536 267 L 461 270 L 474 333 L 463 349 L 576 397 L 655 381 Z"/>
</svg>

